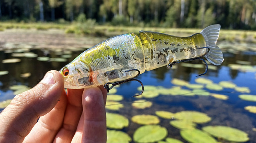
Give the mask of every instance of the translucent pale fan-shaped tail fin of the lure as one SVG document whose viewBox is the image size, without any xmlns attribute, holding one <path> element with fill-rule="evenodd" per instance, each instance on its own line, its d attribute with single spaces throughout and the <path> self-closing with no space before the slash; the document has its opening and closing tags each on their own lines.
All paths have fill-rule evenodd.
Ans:
<svg viewBox="0 0 256 143">
<path fill-rule="evenodd" d="M 200 32 L 206 41 L 207 47 L 210 48 L 209 53 L 206 54 L 205 57 L 214 65 L 220 65 L 224 60 L 220 48 L 216 46 L 216 42 L 219 38 L 219 31 L 220 25 L 216 24 L 208 26 Z"/>
</svg>

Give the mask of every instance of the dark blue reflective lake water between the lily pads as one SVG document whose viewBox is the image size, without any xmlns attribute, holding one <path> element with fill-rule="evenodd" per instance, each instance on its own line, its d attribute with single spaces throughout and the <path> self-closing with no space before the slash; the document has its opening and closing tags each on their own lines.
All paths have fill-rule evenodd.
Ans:
<svg viewBox="0 0 256 143">
<path fill-rule="evenodd" d="M 226 49 L 227 50 L 227 49 Z M 19 52 L 19 51 L 16 51 Z M 43 51 L 40 49 L 31 49 L 29 52 L 37 54 L 38 57 L 47 56 L 50 58 L 61 57 L 60 53 L 55 51 Z M 49 70 L 60 70 L 64 65 L 71 62 L 82 51 L 72 51 L 71 57 L 65 58 L 64 62 L 56 61 L 39 61 L 37 57 L 13 57 L 13 53 L 5 53 L 0 51 L 0 71 L 9 71 L 8 74 L 0 76 L 0 102 L 12 99 L 14 97 L 13 90 L 10 90 L 10 86 L 13 85 L 26 85 L 28 87 L 35 86 Z M 21 53 L 23 53 L 21 51 Z M 21 62 L 17 63 L 2 63 L 4 59 L 19 58 Z M 250 141 L 245 143 L 256 143 L 256 114 L 250 113 L 244 109 L 245 106 L 256 106 L 256 102 L 241 100 L 238 95 L 251 94 L 256 95 L 256 52 L 253 51 L 240 51 L 236 54 L 226 52 L 224 53 L 224 62 L 222 65 L 215 67 L 215 69 L 209 69 L 208 72 L 201 76 L 212 80 L 214 83 L 221 81 L 231 81 L 239 87 L 248 87 L 250 93 L 237 92 L 231 88 L 224 88 L 221 91 L 209 90 L 210 93 L 218 93 L 227 95 L 228 100 L 221 100 L 212 96 L 171 96 L 171 95 L 159 95 L 156 98 L 147 99 L 153 102 L 150 108 L 135 109 L 131 106 L 132 102 L 138 100 L 136 98 L 130 98 L 136 93 L 140 92 L 137 87 L 139 83 L 133 81 L 122 84 L 117 88 L 116 94 L 124 96 L 124 100 L 121 101 L 124 104 L 124 108 L 119 111 L 111 111 L 126 116 L 129 120 L 132 116 L 138 114 L 151 114 L 155 115 L 155 111 L 165 110 L 173 113 L 184 110 L 195 110 L 206 113 L 212 118 L 212 120 L 206 124 L 198 124 L 197 128 L 201 128 L 207 125 L 223 125 L 240 129 L 248 133 Z M 49 59 L 50 60 L 50 59 Z M 247 61 L 247 62 L 245 62 Z M 196 64 L 202 64 L 200 60 L 186 62 Z M 238 64 L 244 66 L 240 69 L 231 69 L 230 64 Z M 137 79 L 141 80 L 144 85 L 163 86 L 165 88 L 171 88 L 175 86 L 170 81 L 174 78 L 188 81 L 189 83 L 196 83 L 196 75 L 203 73 L 205 68 L 192 68 L 185 67 L 183 64 L 176 64 L 176 68 L 167 69 L 162 67 L 152 71 L 146 71 L 138 76 Z M 24 73 L 31 73 L 28 78 L 22 78 L 20 75 Z M 183 89 L 188 89 L 183 87 Z M 168 137 L 173 137 L 187 143 L 180 136 L 179 129 L 172 127 L 169 124 L 170 120 L 161 119 L 160 125 L 166 127 L 168 130 Z M 140 127 L 136 123 L 130 121 L 130 125 L 127 128 L 122 129 L 128 133 L 131 137 L 134 130 Z M 131 142 L 135 143 L 135 142 Z M 229 142 L 223 142 L 229 143 Z"/>
</svg>

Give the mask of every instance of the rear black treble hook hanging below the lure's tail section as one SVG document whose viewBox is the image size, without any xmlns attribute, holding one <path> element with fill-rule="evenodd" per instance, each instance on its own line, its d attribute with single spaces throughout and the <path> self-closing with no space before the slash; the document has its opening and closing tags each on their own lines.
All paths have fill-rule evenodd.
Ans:
<svg viewBox="0 0 256 143">
<path fill-rule="evenodd" d="M 206 74 L 207 71 L 208 71 L 208 64 L 206 63 L 206 61 L 205 61 L 204 59 L 202 59 L 202 57 L 209 53 L 210 48 L 208 48 L 208 47 L 201 47 L 201 48 L 197 48 L 197 49 L 203 49 L 203 48 L 207 48 L 208 50 L 207 50 L 202 56 L 195 57 L 195 58 L 189 58 L 189 59 L 182 59 L 182 60 L 174 61 L 174 62 L 168 64 L 168 65 L 167 65 L 167 68 L 171 69 L 172 66 L 173 66 L 174 64 L 176 64 L 176 63 L 181 63 L 181 62 L 185 62 L 185 61 L 192 61 L 192 60 L 199 59 L 199 60 L 202 60 L 202 61 L 205 63 L 206 69 L 205 69 L 205 72 L 204 72 L 204 73 L 199 74 L 198 76 L 201 76 L 201 75 Z M 196 76 L 196 77 L 198 77 L 198 76 Z"/>
</svg>

